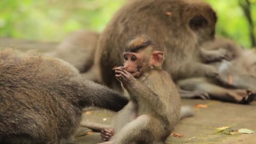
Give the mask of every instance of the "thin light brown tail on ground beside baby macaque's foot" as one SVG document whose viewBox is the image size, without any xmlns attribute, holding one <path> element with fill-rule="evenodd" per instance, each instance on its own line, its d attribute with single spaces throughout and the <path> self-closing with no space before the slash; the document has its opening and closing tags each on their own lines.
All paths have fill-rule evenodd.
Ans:
<svg viewBox="0 0 256 144">
<path fill-rule="evenodd" d="M 101 132 L 101 130 L 104 130 L 106 128 L 110 128 L 110 125 L 104 125 L 104 124 L 100 124 L 100 123 L 92 123 L 92 122 L 81 122 L 80 123 L 81 127 L 85 127 L 85 128 L 89 128 L 93 131 L 96 132 Z"/>
</svg>

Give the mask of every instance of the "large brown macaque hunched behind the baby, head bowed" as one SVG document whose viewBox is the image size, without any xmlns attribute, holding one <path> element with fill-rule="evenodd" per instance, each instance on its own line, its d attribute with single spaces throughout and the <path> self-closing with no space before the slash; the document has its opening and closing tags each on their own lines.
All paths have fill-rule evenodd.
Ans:
<svg viewBox="0 0 256 144">
<path fill-rule="evenodd" d="M 138 14 L 139 13 L 139 14 Z M 135 0 L 115 13 L 102 32 L 95 63 L 105 85 L 120 90 L 112 68 L 121 65 L 123 45 L 138 33 L 147 33 L 159 45 L 166 61 L 163 69 L 174 81 L 191 75 L 216 77 L 210 65 L 193 61 L 199 46 L 215 35 L 216 13 L 201 0 Z M 219 57 L 222 57 L 220 55 Z"/>
</svg>

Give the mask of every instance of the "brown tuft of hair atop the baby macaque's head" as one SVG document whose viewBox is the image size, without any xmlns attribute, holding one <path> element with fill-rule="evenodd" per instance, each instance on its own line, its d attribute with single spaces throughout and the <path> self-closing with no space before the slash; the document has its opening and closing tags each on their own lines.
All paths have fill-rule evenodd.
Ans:
<svg viewBox="0 0 256 144">
<path fill-rule="evenodd" d="M 133 37 L 125 47 L 126 52 L 136 53 L 139 50 L 147 48 L 149 45 L 152 45 L 152 40 L 149 36 L 145 34 L 139 34 Z"/>
</svg>

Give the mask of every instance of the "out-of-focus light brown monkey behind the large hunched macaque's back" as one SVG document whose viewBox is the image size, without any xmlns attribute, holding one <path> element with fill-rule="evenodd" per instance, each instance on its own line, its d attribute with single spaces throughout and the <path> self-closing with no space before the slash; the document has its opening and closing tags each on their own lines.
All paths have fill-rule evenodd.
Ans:
<svg viewBox="0 0 256 144">
<path fill-rule="evenodd" d="M 45 53 L 45 56 L 63 59 L 76 67 L 83 78 L 99 83 L 99 68 L 93 65 L 99 35 L 89 30 L 72 32 L 56 50 Z"/>
</svg>

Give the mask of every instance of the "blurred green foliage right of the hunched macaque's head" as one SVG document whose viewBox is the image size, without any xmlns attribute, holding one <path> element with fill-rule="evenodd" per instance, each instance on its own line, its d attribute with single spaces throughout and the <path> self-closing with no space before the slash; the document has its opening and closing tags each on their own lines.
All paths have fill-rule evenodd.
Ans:
<svg viewBox="0 0 256 144">
<path fill-rule="evenodd" d="M 217 35 L 232 38 L 245 47 L 251 47 L 249 24 L 238 0 L 205 0 L 217 12 Z M 251 15 L 256 26 L 256 0 L 251 1 Z M 256 34 L 256 31 L 254 32 Z"/>
</svg>

